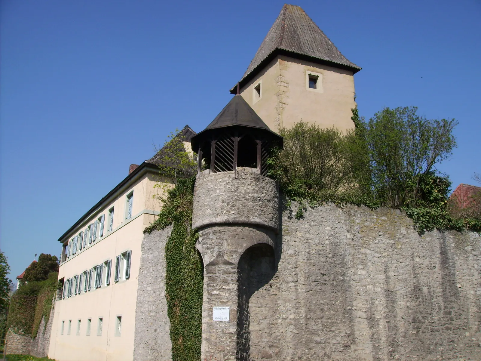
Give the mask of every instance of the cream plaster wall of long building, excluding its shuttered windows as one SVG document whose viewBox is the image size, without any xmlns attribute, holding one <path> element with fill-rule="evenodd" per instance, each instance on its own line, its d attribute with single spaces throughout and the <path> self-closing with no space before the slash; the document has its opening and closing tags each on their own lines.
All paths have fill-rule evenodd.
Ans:
<svg viewBox="0 0 481 361">
<path fill-rule="evenodd" d="M 112 259 L 112 276 L 110 285 L 102 284 L 98 289 L 92 288 L 87 293 L 65 297 L 55 303 L 49 357 L 59 361 L 82 360 L 132 360 L 135 309 L 137 299 L 138 274 L 140 263 L 140 246 L 143 230 L 155 219 L 161 209 L 161 201 L 152 195 L 163 192 L 163 188 L 154 188 L 156 181 L 164 181 L 152 173 L 144 174 L 129 187 L 119 190 L 119 194 L 101 210 L 92 214 L 78 229 L 76 234 L 105 214 L 104 235 L 77 251 L 60 265 L 59 279 L 71 278 L 90 268 Z M 133 191 L 132 217 L 125 219 L 127 194 Z M 106 200 L 107 202 L 108 200 Z M 108 210 L 114 206 L 113 230 L 108 232 Z M 115 257 L 128 250 L 132 251 L 130 278 L 114 282 Z M 105 269 L 103 272 L 105 275 Z M 105 279 L 105 276 L 103 277 Z M 122 316 L 122 331 L 115 336 L 116 316 Z M 103 318 L 102 335 L 97 335 L 99 317 Z M 86 335 L 87 320 L 92 319 L 90 335 Z M 72 330 L 67 335 L 68 321 L 72 320 Z M 81 320 L 80 335 L 76 335 L 77 322 Z M 61 335 L 62 321 L 65 322 Z"/>
</svg>

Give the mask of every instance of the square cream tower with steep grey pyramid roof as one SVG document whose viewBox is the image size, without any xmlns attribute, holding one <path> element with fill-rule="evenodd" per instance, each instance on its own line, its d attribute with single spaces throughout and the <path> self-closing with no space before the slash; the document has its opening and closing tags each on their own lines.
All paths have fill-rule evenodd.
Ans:
<svg viewBox="0 0 481 361">
<path fill-rule="evenodd" d="M 354 127 L 359 70 L 303 9 L 286 4 L 240 80 L 241 95 L 274 131 L 301 120 L 344 131 Z"/>
</svg>

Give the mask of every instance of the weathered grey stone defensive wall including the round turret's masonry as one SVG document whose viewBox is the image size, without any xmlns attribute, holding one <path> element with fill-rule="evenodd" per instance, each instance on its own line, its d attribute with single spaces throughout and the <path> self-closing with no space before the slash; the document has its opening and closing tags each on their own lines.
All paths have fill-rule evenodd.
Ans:
<svg viewBox="0 0 481 361">
<path fill-rule="evenodd" d="M 419 236 L 389 208 L 326 205 L 297 220 L 297 206 L 281 209 L 253 171 L 198 176 L 202 360 L 480 360 L 477 233 Z M 171 360 L 169 234 L 142 244 L 134 360 Z M 228 321 L 213 321 L 216 306 Z"/>
</svg>

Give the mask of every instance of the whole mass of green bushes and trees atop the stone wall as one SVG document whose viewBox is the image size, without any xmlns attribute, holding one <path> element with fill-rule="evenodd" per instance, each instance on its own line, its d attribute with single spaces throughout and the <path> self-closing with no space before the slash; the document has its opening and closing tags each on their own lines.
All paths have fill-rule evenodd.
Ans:
<svg viewBox="0 0 481 361">
<path fill-rule="evenodd" d="M 474 213 L 453 215 L 451 181 L 436 164 L 456 147 L 454 119 L 427 119 L 416 107 L 384 108 L 367 122 L 352 109 L 353 130 L 297 123 L 280 129 L 284 149 L 268 159 L 268 176 L 289 198 L 301 202 L 352 203 L 403 208 L 419 233 L 433 229 L 481 231 Z"/>
</svg>

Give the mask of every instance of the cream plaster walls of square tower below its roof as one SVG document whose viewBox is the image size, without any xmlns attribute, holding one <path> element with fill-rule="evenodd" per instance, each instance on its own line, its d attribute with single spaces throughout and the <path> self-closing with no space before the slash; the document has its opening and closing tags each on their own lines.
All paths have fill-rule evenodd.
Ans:
<svg viewBox="0 0 481 361">
<path fill-rule="evenodd" d="M 322 92 L 307 87 L 306 71 L 322 74 Z M 260 80 L 261 99 L 254 103 L 253 87 Z M 342 131 L 354 127 L 354 75 L 349 70 L 278 56 L 242 88 L 241 95 L 274 131 L 301 120 Z"/>
</svg>

